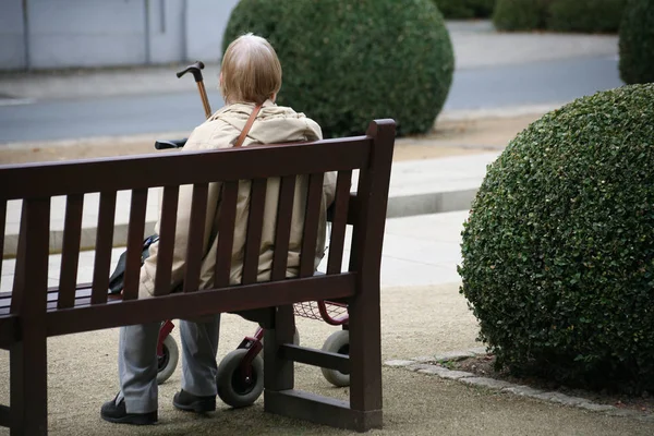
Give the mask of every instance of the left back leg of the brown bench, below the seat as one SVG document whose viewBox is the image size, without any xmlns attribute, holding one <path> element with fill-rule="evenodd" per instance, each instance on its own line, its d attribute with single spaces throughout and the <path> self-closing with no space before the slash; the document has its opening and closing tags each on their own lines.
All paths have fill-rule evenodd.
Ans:
<svg viewBox="0 0 654 436">
<path fill-rule="evenodd" d="M 23 337 L 10 350 L 11 436 L 47 435 L 46 337 Z"/>
</svg>

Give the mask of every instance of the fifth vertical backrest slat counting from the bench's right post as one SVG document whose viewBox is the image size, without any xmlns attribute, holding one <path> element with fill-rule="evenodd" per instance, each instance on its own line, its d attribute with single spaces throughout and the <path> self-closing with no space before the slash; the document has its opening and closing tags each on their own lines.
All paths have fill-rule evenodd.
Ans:
<svg viewBox="0 0 654 436">
<path fill-rule="evenodd" d="M 231 255 L 234 244 L 234 222 L 237 218 L 237 201 L 239 199 L 239 182 L 222 184 L 220 198 L 220 217 L 218 217 L 218 247 L 216 251 L 215 288 L 229 286 Z"/>
</svg>

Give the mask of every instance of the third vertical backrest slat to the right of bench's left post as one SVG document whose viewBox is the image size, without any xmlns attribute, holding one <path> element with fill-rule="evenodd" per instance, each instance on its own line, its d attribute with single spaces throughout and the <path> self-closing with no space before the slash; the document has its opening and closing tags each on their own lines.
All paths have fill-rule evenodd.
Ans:
<svg viewBox="0 0 654 436">
<path fill-rule="evenodd" d="M 130 204 L 130 225 L 128 227 L 128 255 L 125 256 L 123 300 L 136 300 L 138 298 L 146 208 L 147 190 L 133 190 Z"/>
</svg>

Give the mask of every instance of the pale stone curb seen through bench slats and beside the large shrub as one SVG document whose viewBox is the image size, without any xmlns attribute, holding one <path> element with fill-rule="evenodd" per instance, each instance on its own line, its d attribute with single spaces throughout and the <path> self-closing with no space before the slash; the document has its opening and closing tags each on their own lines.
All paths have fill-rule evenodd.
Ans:
<svg viewBox="0 0 654 436">
<path fill-rule="evenodd" d="M 387 218 L 403 218 L 416 215 L 441 214 L 447 211 L 468 210 L 476 195 L 477 189 L 469 189 L 450 192 L 434 192 L 426 194 L 397 196 L 388 198 Z M 146 220 L 145 234 L 153 234 L 155 220 Z M 126 246 L 128 223 L 118 223 L 113 228 L 113 247 Z M 80 240 L 81 251 L 95 250 L 97 227 L 82 228 Z M 50 231 L 50 254 L 60 254 L 63 244 L 63 230 Z M 19 247 L 19 235 L 7 234 L 4 237 L 3 258 L 16 256 Z"/>
</svg>

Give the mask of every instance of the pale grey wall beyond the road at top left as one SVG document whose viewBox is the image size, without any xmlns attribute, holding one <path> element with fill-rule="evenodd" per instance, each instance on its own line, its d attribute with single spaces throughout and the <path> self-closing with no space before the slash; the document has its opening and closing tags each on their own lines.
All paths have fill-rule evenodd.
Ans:
<svg viewBox="0 0 654 436">
<path fill-rule="evenodd" d="M 216 62 L 238 2 L 0 0 L 0 70 Z"/>
</svg>

